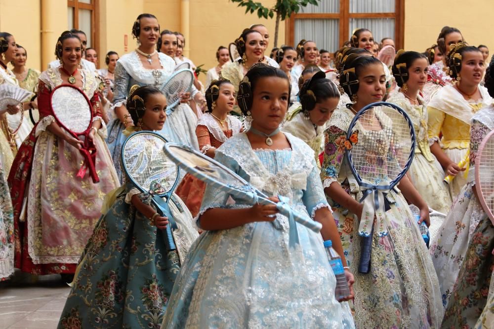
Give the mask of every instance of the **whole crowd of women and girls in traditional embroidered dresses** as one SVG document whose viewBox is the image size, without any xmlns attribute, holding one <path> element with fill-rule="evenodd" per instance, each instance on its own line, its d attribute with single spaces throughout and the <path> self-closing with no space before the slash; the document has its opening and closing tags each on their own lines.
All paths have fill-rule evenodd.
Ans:
<svg viewBox="0 0 494 329">
<path fill-rule="evenodd" d="M 194 68 L 184 37 L 152 14 L 139 15 L 131 32 L 135 51 L 108 52 L 108 68 L 96 71 L 83 32 L 66 31 L 42 73 L 0 33 L 0 84 L 37 95 L 0 113 L 0 280 L 18 268 L 72 281 L 59 328 L 494 326 L 494 226 L 474 186 L 479 145 L 494 128 L 486 46 L 444 27 L 424 53 L 390 55 L 392 39 L 377 44 L 362 28 L 332 64 L 306 39 L 266 56 L 269 33 L 257 24 L 235 40 L 238 58 L 220 46 L 206 88 L 196 77 L 171 107 L 165 82 L 183 62 Z M 50 96 L 64 84 L 90 101 L 99 183 L 80 170 L 82 142 L 55 120 Z M 345 142 L 356 113 L 381 101 L 408 113 L 416 147 L 409 172 L 385 195 L 388 234 L 372 235 L 364 274 L 363 193 Z M 25 116 L 14 134 L 9 115 L 29 109 L 36 123 Z M 360 138 L 373 138 L 380 126 L 370 124 Z M 176 177 L 172 218 L 161 216 L 154 191 L 140 192 L 121 167 L 124 141 L 138 131 L 214 158 L 321 232 L 190 174 Z M 412 205 L 429 226 L 430 249 Z M 170 222 L 181 232 L 175 250 L 165 245 Z M 326 240 L 343 261 L 350 294 L 341 300 Z"/>
</svg>

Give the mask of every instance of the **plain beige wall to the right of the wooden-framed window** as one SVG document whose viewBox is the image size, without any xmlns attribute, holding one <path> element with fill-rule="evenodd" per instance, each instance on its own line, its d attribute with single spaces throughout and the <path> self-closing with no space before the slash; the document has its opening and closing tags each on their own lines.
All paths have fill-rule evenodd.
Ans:
<svg viewBox="0 0 494 329">
<path fill-rule="evenodd" d="M 493 0 L 406 0 L 405 49 L 424 51 L 436 43 L 445 25 L 461 31 L 471 45 L 485 44 L 494 52 Z"/>
</svg>

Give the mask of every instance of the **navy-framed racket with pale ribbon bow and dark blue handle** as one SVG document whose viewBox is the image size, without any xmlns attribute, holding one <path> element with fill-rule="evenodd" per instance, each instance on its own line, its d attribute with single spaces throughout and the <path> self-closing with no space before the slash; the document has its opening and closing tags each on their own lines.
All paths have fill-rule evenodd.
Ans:
<svg viewBox="0 0 494 329">
<path fill-rule="evenodd" d="M 385 218 L 389 205 L 385 194 L 400 182 L 412 164 L 415 151 L 412 120 L 394 104 L 372 103 L 351 121 L 345 148 L 350 169 L 363 192 L 359 272 L 369 273 L 373 230 L 379 236 L 388 234 Z"/>
</svg>

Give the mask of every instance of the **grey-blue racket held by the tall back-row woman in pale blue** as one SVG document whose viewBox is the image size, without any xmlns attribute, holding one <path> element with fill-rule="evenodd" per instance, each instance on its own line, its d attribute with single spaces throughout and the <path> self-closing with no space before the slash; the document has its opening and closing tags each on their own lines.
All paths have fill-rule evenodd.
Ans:
<svg viewBox="0 0 494 329">
<path fill-rule="evenodd" d="M 166 80 L 160 88 L 166 97 L 166 114 L 170 114 L 180 103 L 180 97 L 191 90 L 193 82 L 194 73 L 190 69 L 176 71 Z"/>
</svg>

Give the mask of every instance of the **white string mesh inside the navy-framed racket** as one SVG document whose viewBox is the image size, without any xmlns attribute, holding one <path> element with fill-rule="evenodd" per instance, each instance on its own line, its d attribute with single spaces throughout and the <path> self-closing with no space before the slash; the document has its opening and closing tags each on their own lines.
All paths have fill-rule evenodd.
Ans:
<svg viewBox="0 0 494 329">
<path fill-rule="evenodd" d="M 350 155 L 357 174 L 374 184 L 395 180 L 411 159 L 411 123 L 391 107 L 372 108 L 358 118 L 359 141 Z"/>
</svg>

